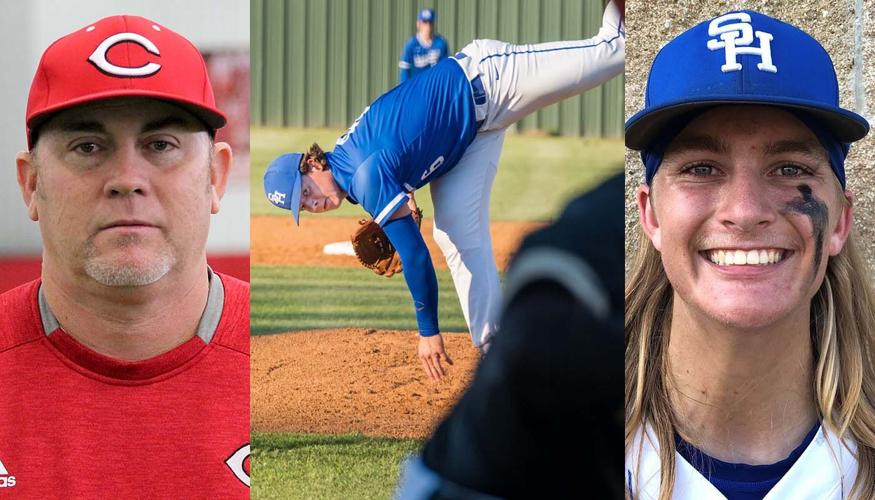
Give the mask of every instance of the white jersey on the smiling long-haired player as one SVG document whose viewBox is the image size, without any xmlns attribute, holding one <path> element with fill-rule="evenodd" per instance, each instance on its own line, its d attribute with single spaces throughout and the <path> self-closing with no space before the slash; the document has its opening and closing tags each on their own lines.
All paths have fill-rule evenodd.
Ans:
<svg viewBox="0 0 875 500">
<path fill-rule="evenodd" d="M 857 477 L 856 443 L 839 440 L 823 426 L 799 459 L 763 500 L 848 498 Z M 708 480 L 675 452 L 675 486 L 672 498 L 726 500 Z M 638 429 L 626 450 L 625 487 L 632 500 L 656 500 L 660 486 L 659 443 L 650 426 Z"/>
</svg>

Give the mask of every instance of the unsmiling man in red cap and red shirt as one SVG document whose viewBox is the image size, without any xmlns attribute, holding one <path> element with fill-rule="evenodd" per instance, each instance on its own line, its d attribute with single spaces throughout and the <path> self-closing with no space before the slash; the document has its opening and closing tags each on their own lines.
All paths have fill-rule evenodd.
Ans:
<svg viewBox="0 0 875 500">
<path fill-rule="evenodd" d="M 206 260 L 225 121 L 161 24 L 46 49 L 16 157 L 42 275 L 0 295 L 0 494 L 248 497 L 249 286 Z"/>
</svg>

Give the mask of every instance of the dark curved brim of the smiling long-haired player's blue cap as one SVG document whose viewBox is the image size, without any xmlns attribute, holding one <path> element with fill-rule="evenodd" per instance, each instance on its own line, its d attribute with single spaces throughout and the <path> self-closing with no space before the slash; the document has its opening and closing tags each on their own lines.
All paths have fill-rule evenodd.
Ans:
<svg viewBox="0 0 875 500">
<path fill-rule="evenodd" d="M 862 116 L 846 109 L 786 97 L 764 96 L 760 100 L 752 99 L 750 95 L 717 95 L 697 97 L 695 102 L 683 100 L 639 111 L 626 121 L 626 147 L 638 151 L 646 149 L 659 136 L 663 128 L 678 116 L 697 109 L 727 104 L 755 104 L 804 111 L 822 122 L 840 142 L 858 141 L 869 133 L 869 122 Z"/>
</svg>

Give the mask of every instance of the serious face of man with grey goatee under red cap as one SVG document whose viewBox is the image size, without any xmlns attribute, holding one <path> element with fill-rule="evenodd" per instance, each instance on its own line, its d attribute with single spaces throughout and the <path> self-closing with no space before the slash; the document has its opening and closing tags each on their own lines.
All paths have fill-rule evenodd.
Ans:
<svg viewBox="0 0 875 500">
<path fill-rule="evenodd" d="M 47 261 L 76 278 L 142 286 L 205 258 L 227 155 L 217 178 L 209 135 L 191 114 L 114 99 L 52 117 L 33 153 L 19 155 L 19 182 Z"/>
</svg>

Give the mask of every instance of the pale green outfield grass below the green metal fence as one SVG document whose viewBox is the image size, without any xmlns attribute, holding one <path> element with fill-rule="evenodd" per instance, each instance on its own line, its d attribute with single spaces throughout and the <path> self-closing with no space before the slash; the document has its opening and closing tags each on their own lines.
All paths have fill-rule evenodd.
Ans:
<svg viewBox="0 0 875 500">
<path fill-rule="evenodd" d="M 262 178 L 271 160 L 283 153 L 303 151 L 314 141 L 330 150 L 342 133 L 335 129 L 252 128 L 252 215 L 288 216 L 288 212 L 275 208 L 264 196 Z M 619 139 L 508 134 L 492 187 L 490 217 L 493 220 L 550 220 L 573 196 L 622 169 L 623 143 Z M 426 217 L 434 213 L 428 189 L 418 190 L 416 201 L 425 210 Z M 344 203 L 338 210 L 319 217 L 360 217 L 363 214 L 361 207 Z"/>
</svg>

